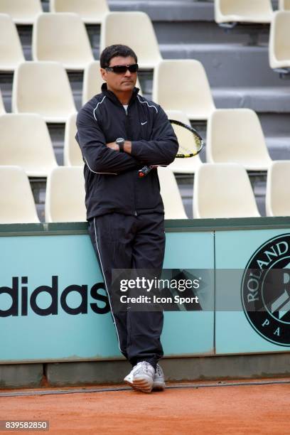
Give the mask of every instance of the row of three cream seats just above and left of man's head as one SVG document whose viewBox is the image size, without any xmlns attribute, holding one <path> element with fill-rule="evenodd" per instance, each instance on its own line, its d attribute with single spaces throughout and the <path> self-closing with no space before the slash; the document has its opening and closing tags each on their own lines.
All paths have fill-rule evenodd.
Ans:
<svg viewBox="0 0 290 435">
<path fill-rule="evenodd" d="M 0 41 L 0 70 L 13 71 L 24 57 L 16 26 L 7 14 L 0 14 Z M 162 59 L 153 25 L 144 12 L 111 12 L 104 16 L 100 50 L 115 43 L 130 45 L 142 69 L 155 68 Z M 63 63 L 67 70 L 83 70 L 94 57 L 80 16 L 39 14 L 33 24 L 32 58 Z"/>
</svg>

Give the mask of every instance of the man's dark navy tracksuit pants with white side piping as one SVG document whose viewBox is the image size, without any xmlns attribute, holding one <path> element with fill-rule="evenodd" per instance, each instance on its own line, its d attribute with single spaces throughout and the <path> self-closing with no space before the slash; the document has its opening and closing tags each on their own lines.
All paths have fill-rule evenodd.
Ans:
<svg viewBox="0 0 290 435">
<path fill-rule="evenodd" d="M 112 297 L 112 269 L 161 269 L 165 250 L 164 215 L 108 213 L 88 221 L 88 230 Z M 111 302 L 110 302 L 111 304 Z M 119 349 L 132 366 L 147 361 L 156 368 L 163 356 L 162 311 L 112 313 Z"/>
</svg>

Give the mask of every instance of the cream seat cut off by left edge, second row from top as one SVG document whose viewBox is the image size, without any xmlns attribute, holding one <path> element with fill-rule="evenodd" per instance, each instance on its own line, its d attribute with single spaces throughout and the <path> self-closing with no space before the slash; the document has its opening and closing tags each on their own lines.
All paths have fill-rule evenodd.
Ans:
<svg viewBox="0 0 290 435">
<path fill-rule="evenodd" d="M 14 71 L 24 56 L 16 26 L 7 14 L 0 14 L 0 70 Z"/>
</svg>

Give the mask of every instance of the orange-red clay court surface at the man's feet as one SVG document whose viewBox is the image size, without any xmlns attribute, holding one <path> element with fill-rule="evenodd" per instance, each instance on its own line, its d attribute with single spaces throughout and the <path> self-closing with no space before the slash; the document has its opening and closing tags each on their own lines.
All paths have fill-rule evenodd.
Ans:
<svg viewBox="0 0 290 435">
<path fill-rule="evenodd" d="M 290 384 L 0 397 L 0 419 L 49 420 L 25 434 L 290 434 Z"/>
</svg>

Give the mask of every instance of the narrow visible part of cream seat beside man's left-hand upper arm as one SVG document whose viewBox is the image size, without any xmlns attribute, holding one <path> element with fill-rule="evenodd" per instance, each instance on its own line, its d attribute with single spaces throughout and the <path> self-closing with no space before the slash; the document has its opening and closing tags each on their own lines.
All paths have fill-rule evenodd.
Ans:
<svg viewBox="0 0 290 435">
<path fill-rule="evenodd" d="M 82 153 L 80 146 L 75 140 L 77 126 L 75 125 L 77 114 L 74 113 L 68 117 L 65 124 L 65 144 L 63 147 L 63 161 L 65 166 L 83 166 Z"/>
</svg>

